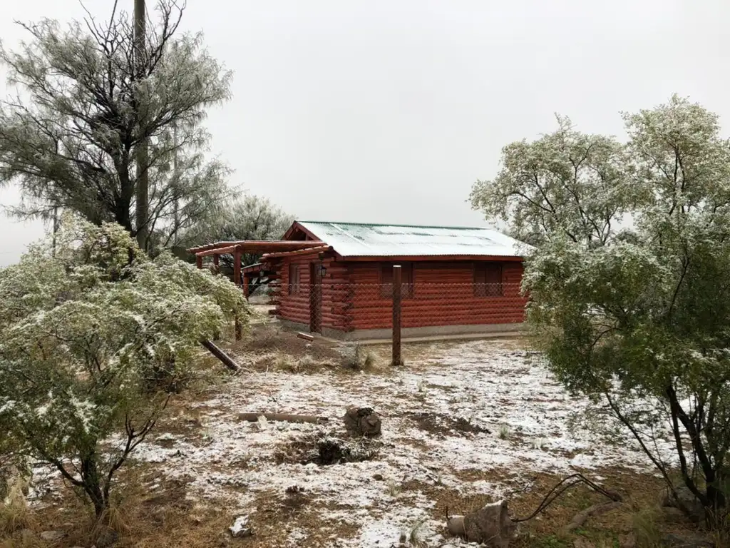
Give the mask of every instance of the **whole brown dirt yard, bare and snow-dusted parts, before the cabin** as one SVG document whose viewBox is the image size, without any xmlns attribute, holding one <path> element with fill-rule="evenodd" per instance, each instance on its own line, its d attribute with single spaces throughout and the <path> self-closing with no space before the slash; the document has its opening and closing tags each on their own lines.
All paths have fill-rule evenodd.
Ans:
<svg viewBox="0 0 730 548">
<path fill-rule="evenodd" d="M 260 311 L 228 350 L 242 373 L 204 359 L 199 381 L 120 471 L 116 546 L 467 546 L 445 531 L 447 514 L 504 499 L 524 517 L 575 471 L 620 492 L 621 508 L 565 533 L 577 512 L 602 501 L 576 487 L 520 525 L 511 546 L 650 546 L 660 530 L 691 528 L 658 509 L 661 481 L 633 444 L 605 444 L 575 426 L 585 402 L 569 397 L 523 340 L 410 345 L 405 366 L 391 368 L 385 347 L 310 343 Z M 307 460 L 323 440 L 361 444 L 342 427 L 348 406 L 374 408 L 383 435 L 346 463 Z M 329 420 L 242 422 L 242 412 Z M 237 518 L 252 535 L 231 538 Z M 24 519 L 32 533 L 0 536 L 0 547 L 97 540 L 69 490 L 45 495 Z M 49 529 L 65 536 L 39 541 Z"/>
</svg>

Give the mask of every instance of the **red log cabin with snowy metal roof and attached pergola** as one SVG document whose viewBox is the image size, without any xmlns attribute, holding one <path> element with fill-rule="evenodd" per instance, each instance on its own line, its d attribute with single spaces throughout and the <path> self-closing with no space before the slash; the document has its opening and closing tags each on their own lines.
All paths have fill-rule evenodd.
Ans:
<svg viewBox="0 0 730 548">
<path fill-rule="evenodd" d="M 401 267 L 404 338 L 477 335 L 520 329 L 520 292 L 529 246 L 484 228 L 296 221 L 282 240 L 224 242 L 206 255 L 266 251 L 261 262 L 234 261 L 234 281 L 266 276 L 272 313 L 286 327 L 332 338 L 388 338 L 393 266 Z"/>
</svg>

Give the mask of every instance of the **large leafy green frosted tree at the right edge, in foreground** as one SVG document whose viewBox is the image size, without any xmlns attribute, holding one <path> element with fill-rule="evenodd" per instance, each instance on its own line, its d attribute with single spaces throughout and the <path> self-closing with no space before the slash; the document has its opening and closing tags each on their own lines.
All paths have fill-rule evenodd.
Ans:
<svg viewBox="0 0 730 548">
<path fill-rule="evenodd" d="M 565 157 L 545 139 L 505 148 L 506 171 L 477 184 L 476 203 L 494 213 L 513 189 L 507 220 L 542 231 L 524 289 L 558 378 L 633 436 L 675 498 L 683 484 L 717 523 L 730 495 L 730 146 L 716 115 L 677 96 L 624 120 L 629 141 L 610 145 L 620 175 L 583 186 L 590 209 L 558 208 L 563 194 L 533 184 L 541 175 L 524 166 Z M 617 232 L 624 211 L 633 226 Z M 655 443 L 663 436 L 669 452 Z"/>
</svg>

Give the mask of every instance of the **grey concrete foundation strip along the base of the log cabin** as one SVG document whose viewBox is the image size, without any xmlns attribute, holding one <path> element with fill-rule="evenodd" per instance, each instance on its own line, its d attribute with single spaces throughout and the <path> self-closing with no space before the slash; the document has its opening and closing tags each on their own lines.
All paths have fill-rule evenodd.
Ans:
<svg viewBox="0 0 730 548">
<path fill-rule="evenodd" d="M 308 324 L 296 321 L 279 320 L 283 327 L 293 331 L 310 332 Z M 471 325 L 435 325 L 428 327 L 404 327 L 401 329 L 401 338 L 408 340 L 439 340 L 458 338 L 494 337 L 498 335 L 519 335 L 524 324 L 471 324 Z M 344 332 L 328 327 L 322 329 L 321 335 L 335 340 L 358 340 L 363 342 L 391 340 L 393 330 L 355 330 Z"/>
</svg>

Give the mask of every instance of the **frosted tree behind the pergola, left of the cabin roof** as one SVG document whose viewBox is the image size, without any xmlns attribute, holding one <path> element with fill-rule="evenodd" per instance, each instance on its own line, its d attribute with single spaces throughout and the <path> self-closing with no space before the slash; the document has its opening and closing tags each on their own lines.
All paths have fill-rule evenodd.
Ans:
<svg viewBox="0 0 730 548">
<path fill-rule="evenodd" d="M 183 241 L 186 247 L 193 247 L 232 240 L 278 240 L 293 222 L 293 216 L 268 198 L 246 195 L 224 206 L 219 216 L 194 224 Z M 245 265 L 252 265 L 259 258 L 245 254 L 242 260 Z M 230 256 L 222 256 L 220 261 L 228 267 L 233 265 Z"/>
</svg>

